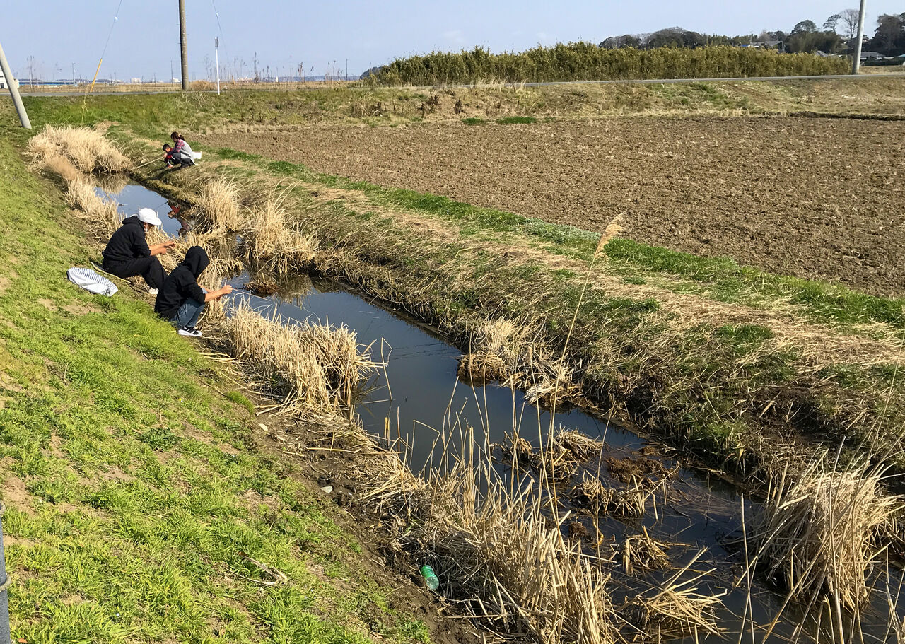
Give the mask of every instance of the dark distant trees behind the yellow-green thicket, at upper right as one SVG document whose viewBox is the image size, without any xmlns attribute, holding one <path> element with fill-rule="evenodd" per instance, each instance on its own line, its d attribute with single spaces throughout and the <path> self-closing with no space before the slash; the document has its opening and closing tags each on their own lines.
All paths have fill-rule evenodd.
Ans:
<svg viewBox="0 0 905 644">
<path fill-rule="evenodd" d="M 657 49 L 675 47 L 697 49 L 713 45 L 733 47 L 760 47 L 788 53 L 850 53 L 858 34 L 858 10 L 845 9 L 829 16 L 817 27 L 813 20 L 802 20 L 790 32 L 764 31 L 757 35 L 724 36 L 692 32 L 681 27 L 670 27 L 653 33 L 625 33 L 610 36 L 600 43 L 603 49 Z M 865 51 L 880 52 L 885 56 L 905 53 L 905 14 L 882 14 L 871 39 L 863 43 Z"/>
</svg>

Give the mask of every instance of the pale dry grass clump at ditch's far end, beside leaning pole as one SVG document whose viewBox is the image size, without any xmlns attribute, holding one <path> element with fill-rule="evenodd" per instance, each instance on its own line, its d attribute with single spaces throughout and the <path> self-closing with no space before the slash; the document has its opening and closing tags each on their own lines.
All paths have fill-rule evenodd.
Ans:
<svg viewBox="0 0 905 644">
<path fill-rule="evenodd" d="M 64 156 L 85 173 L 122 172 L 129 167 L 119 148 L 90 128 L 49 125 L 28 141 L 28 151 L 39 166 L 52 156 Z"/>
</svg>

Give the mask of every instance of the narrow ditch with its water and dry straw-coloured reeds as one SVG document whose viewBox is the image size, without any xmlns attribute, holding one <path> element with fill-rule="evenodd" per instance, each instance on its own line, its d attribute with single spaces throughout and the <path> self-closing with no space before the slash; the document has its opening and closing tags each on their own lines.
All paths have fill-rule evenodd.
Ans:
<svg viewBox="0 0 905 644">
<path fill-rule="evenodd" d="M 62 148 L 55 156 L 43 153 L 43 167 L 63 177 L 71 204 L 87 215 L 98 239 L 120 219 L 116 202 L 103 195 L 151 207 L 167 201 L 122 185 L 98 194 L 72 166 L 82 173 L 121 170 L 124 159 L 99 143 L 110 164 L 80 165 L 65 154 L 64 139 L 54 144 Z M 68 165 L 59 163 L 63 156 Z M 517 379 L 505 378 L 511 329 L 488 321 L 476 338 L 481 349 L 472 347 L 460 368 L 457 350 L 431 329 L 341 284 L 312 281 L 317 240 L 287 226 L 271 200 L 245 213 L 227 188 L 202 187 L 206 205 L 197 229 L 186 220 L 163 232 L 181 232 L 183 245 L 208 247 L 214 265 L 207 279 L 249 285 L 247 294 L 237 289 L 228 307 L 210 307 L 212 335 L 220 333 L 238 362 L 256 362 L 252 371 L 269 380 L 273 393 L 318 408 L 314 421 L 326 425 L 324 412 L 352 411 L 354 400 L 352 428 L 358 423 L 372 439 L 349 450 L 323 431 L 329 448 L 317 449 L 367 457 L 365 465 L 350 463 L 357 469 L 353 502 L 380 518 L 391 549 L 408 557 L 402 561 L 434 564 L 441 592 L 462 613 L 500 638 L 549 643 L 736 639 L 747 630 L 752 640 L 770 641 L 900 636 L 900 572 L 872 565 L 889 561 L 872 537 L 895 509 L 878 488 L 881 474 L 816 472 L 813 507 L 799 512 L 794 495 L 808 494 L 800 483 L 781 485 L 752 504 L 719 476 L 685 467 L 627 428 L 575 410 L 551 418 L 545 409 L 562 407 L 564 379 L 555 364 L 550 373 L 552 363 L 541 367 L 548 369 L 543 386 L 519 383 L 524 393 Z M 257 270 L 251 276 L 249 266 Z M 338 375 L 331 371 L 336 361 L 312 365 L 298 351 L 302 341 L 348 368 Z M 536 357 L 529 348 L 519 360 L 534 365 Z M 302 366 L 319 369 L 324 396 L 309 391 L 299 377 Z M 275 407 L 286 412 L 289 403 Z M 292 447 L 291 436 L 283 440 Z M 793 497 L 783 496 L 787 489 Z M 843 489 L 843 501 L 852 500 L 840 508 L 836 491 Z M 862 516 L 864 507 L 879 511 Z M 775 521 L 752 523 L 764 508 L 772 508 L 768 518 Z M 772 532 L 754 534 L 756 526 Z M 843 558 L 836 535 L 851 546 Z M 787 536 L 793 547 L 779 547 Z M 769 562 L 767 579 L 751 564 L 770 553 L 788 556 Z M 799 553 L 809 559 L 796 561 Z M 816 582 L 802 582 L 812 573 Z M 790 592 L 773 592 L 771 585 Z"/>
</svg>

